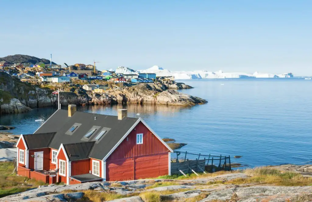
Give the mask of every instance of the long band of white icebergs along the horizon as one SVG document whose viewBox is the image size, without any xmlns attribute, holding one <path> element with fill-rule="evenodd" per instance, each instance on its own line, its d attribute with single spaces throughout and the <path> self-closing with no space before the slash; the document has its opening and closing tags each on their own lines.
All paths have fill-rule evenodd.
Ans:
<svg viewBox="0 0 312 202">
<path fill-rule="evenodd" d="M 121 74 L 139 74 L 139 73 L 155 73 L 157 77 L 174 76 L 175 79 L 204 79 L 204 78 L 292 78 L 292 73 L 273 74 L 273 73 L 259 73 L 253 74 L 244 72 L 223 72 L 222 70 L 216 72 L 209 72 L 206 70 L 195 71 L 170 71 L 163 69 L 157 65 L 143 70 L 134 70 L 127 67 L 118 67 L 116 73 Z"/>
</svg>

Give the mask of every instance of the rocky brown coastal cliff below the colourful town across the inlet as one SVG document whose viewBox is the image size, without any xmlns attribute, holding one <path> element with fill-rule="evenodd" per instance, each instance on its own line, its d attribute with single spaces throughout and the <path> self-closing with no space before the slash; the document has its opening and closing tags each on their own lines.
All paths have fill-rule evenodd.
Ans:
<svg viewBox="0 0 312 202">
<path fill-rule="evenodd" d="M 107 83 L 107 82 L 106 82 Z M 109 104 L 160 104 L 173 106 L 193 106 L 207 101 L 171 89 L 192 88 L 184 83 L 165 81 L 141 83 L 133 86 L 108 82 L 111 90 L 105 93 L 85 91 L 75 85 L 52 83 L 39 87 L 35 84 L 21 82 L 7 73 L 0 72 L 0 114 L 22 113 L 31 108 L 57 105 L 57 95 L 52 92 L 60 90 L 60 103 L 83 105 Z"/>
</svg>

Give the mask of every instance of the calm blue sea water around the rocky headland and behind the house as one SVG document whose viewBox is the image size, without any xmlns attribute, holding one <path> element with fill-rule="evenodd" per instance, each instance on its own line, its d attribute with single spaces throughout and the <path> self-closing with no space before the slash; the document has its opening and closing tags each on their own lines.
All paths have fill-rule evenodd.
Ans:
<svg viewBox="0 0 312 202">
<path fill-rule="evenodd" d="M 230 155 L 232 162 L 250 167 L 312 160 L 312 82 L 290 79 L 185 80 L 193 89 L 180 90 L 207 99 L 205 105 L 85 106 L 78 110 L 117 115 L 128 108 L 154 131 L 177 142 L 181 151 Z M 65 108 L 66 109 L 66 108 Z M 46 120 L 56 109 L 34 109 L 26 114 L 4 115 L 0 124 L 17 127 L 15 134 L 33 133 L 37 119 Z M 137 115 L 139 114 L 139 115 Z M 234 159 L 234 155 L 242 156 Z"/>
</svg>

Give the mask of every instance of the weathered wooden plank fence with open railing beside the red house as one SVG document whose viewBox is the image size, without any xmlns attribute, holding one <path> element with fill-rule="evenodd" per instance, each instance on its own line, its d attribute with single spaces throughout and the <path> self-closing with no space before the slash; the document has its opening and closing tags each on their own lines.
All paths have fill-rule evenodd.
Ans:
<svg viewBox="0 0 312 202">
<path fill-rule="evenodd" d="M 197 172 L 215 172 L 215 171 L 231 171 L 231 159 L 230 156 L 214 156 L 203 155 L 201 153 L 194 154 L 189 152 L 174 151 L 171 155 L 175 157 L 175 162 L 171 159 L 171 174 L 195 173 Z M 184 155 L 181 155 L 184 154 Z M 181 155 L 181 157 L 180 157 Z M 202 159 L 200 159 L 202 158 Z M 193 160 L 189 160 L 193 159 Z M 181 172 L 182 171 L 182 172 Z"/>
</svg>

